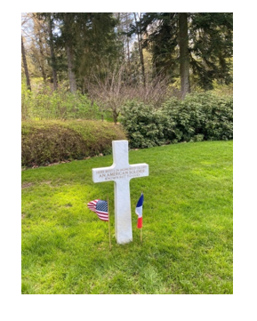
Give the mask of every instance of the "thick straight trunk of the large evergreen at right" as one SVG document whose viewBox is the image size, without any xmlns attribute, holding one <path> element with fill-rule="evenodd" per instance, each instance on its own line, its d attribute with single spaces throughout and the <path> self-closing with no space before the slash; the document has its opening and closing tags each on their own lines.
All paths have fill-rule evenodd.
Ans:
<svg viewBox="0 0 257 321">
<path fill-rule="evenodd" d="M 181 73 L 181 99 L 190 92 L 189 83 L 189 35 L 188 14 L 179 13 L 179 44 L 180 44 L 180 73 Z"/>
</svg>

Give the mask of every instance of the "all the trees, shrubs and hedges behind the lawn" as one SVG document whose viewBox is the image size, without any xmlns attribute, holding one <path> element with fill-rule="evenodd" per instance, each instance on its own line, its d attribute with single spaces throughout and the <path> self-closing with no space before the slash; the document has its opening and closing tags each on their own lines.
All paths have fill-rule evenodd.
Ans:
<svg viewBox="0 0 257 321">
<path fill-rule="evenodd" d="M 21 18 L 22 165 L 233 139 L 231 12 Z"/>
</svg>

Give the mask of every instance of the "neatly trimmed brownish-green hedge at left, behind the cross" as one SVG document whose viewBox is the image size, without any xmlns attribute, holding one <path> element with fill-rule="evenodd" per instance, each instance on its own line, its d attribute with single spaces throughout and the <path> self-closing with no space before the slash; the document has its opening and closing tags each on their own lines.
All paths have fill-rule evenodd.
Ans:
<svg viewBox="0 0 257 321">
<path fill-rule="evenodd" d="M 111 153 L 112 140 L 124 140 L 119 125 L 100 121 L 23 121 L 21 124 L 21 165 L 83 159 Z"/>
</svg>

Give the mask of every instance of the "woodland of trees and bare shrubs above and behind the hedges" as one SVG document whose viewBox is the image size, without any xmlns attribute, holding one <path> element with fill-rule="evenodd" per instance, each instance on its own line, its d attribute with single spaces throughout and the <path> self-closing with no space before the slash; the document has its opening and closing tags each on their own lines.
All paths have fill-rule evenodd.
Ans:
<svg viewBox="0 0 257 321">
<path fill-rule="evenodd" d="M 22 119 L 232 93 L 231 12 L 27 12 L 21 29 Z"/>
</svg>

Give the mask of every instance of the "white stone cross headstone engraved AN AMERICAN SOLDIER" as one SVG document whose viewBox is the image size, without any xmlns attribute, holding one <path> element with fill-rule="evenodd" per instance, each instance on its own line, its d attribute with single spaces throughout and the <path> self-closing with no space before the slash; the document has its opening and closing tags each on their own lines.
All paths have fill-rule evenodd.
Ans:
<svg viewBox="0 0 257 321">
<path fill-rule="evenodd" d="M 129 164 L 128 141 L 113 140 L 113 165 L 93 168 L 92 181 L 114 181 L 115 189 L 115 234 L 118 244 L 132 242 L 132 215 L 130 198 L 130 180 L 149 176 L 148 164 Z"/>
</svg>

